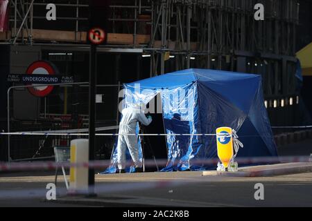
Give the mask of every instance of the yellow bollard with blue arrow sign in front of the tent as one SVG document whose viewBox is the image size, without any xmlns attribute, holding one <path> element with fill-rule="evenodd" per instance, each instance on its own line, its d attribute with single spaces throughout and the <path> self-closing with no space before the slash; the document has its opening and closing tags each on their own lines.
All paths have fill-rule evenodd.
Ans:
<svg viewBox="0 0 312 221">
<path fill-rule="evenodd" d="M 234 155 L 232 128 L 217 128 L 216 134 L 218 157 L 223 163 L 223 166 L 225 166 L 225 169 L 227 169 L 229 162 L 232 160 Z"/>
</svg>

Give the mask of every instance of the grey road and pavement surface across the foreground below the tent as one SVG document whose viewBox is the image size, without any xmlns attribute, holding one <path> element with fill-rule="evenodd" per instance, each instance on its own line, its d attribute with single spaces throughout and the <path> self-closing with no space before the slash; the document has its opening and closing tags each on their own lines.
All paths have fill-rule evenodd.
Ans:
<svg viewBox="0 0 312 221">
<path fill-rule="evenodd" d="M 56 202 L 46 202 L 45 186 L 53 179 L 53 175 L 0 177 L 0 206 L 312 206 L 312 173 L 275 177 L 202 176 L 200 172 L 96 175 L 97 198 L 58 195 Z M 263 201 L 254 200 L 254 185 L 259 182 L 264 185 Z M 60 177 L 58 190 L 62 188 Z M 27 197 L 3 199 L 1 191 L 24 191 Z M 35 195 L 36 191 L 41 195 Z"/>
</svg>

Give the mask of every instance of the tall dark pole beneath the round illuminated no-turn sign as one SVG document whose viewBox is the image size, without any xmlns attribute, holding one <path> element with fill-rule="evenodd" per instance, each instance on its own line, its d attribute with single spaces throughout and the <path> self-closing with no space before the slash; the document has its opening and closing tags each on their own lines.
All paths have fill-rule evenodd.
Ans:
<svg viewBox="0 0 312 221">
<path fill-rule="evenodd" d="M 90 48 L 89 66 L 89 162 L 95 157 L 95 117 L 96 117 L 96 45 Z M 94 196 L 94 169 L 89 169 L 89 196 Z"/>
</svg>

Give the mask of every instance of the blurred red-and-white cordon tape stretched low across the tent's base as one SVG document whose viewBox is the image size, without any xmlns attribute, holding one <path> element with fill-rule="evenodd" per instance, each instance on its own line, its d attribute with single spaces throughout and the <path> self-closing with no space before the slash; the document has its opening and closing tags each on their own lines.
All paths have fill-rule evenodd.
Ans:
<svg viewBox="0 0 312 221">
<path fill-rule="evenodd" d="M 35 160 L 35 158 L 34 158 Z M 291 157 L 238 157 L 235 159 L 239 164 L 252 165 L 252 164 L 277 164 L 277 163 L 295 163 L 295 162 L 311 162 L 310 156 L 291 156 Z M 207 165 L 216 166 L 220 160 L 216 159 L 198 159 L 191 160 L 193 165 Z M 189 162 L 169 162 L 172 166 L 177 164 L 189 164 Z M 155 166 L 155 160 L 145 160 L 145 166 Z M 157 160 L 158 166 L 166 166 L 167 159 Z M 0 162 L 0 171 L 37 171 L 37 170 L 53 170 L 63 166 L 65 169 L 71 167 L 83 167 L 93 169 L 104 169 L 109 166 L 116 165 L 112 160 L 96 160 L 93 162 Z M 132 166 L 132 161 L 128 161 L 126 166 Z"/>
</svg>

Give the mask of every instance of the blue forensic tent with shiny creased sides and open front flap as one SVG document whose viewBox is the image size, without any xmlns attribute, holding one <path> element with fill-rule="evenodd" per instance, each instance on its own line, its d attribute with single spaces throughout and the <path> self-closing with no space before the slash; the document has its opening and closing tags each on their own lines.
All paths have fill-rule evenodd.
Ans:
<svg viewBox="0 0 312 221">
<path fill-rule="evenodd" d="M 206 169 L 196 160 L 217 157 L 216 137 L 196 134 L 214 134 L 220 126 L 238 132 L 244 148 L 237 157 L 277 156 L 260 75 L 189 69 L 125 84 L 124 89 L 125 107 L 148 104 L 160 93 L 165 132 L 173 134 L 166 136 L 168 164 L 162 171 Z M 181 133 L 194 135 L 174 135 Z M 105 173 L 116 171 L 116 157 L 115 144 Z"/>
</svg>

